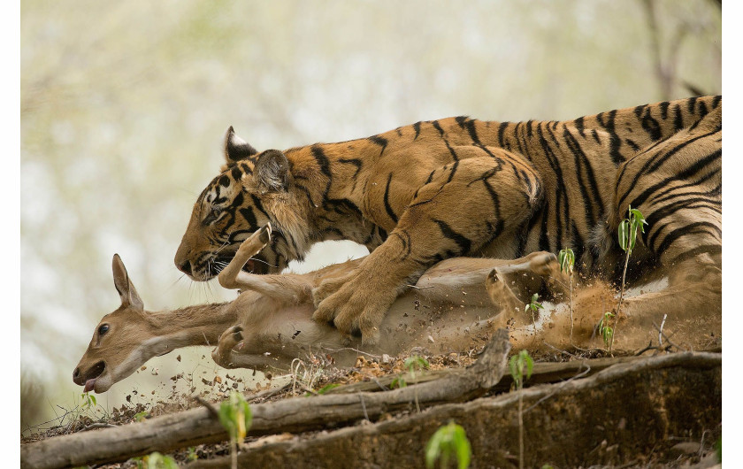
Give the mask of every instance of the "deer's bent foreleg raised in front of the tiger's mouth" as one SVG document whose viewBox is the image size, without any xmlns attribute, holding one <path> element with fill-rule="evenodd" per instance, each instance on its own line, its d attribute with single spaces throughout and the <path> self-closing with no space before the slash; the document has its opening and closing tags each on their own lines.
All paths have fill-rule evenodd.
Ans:
<svg viewBox="0 0 743 469">
<path fill-rule="evenodd" d="M 291 274 L 257 275 L 242 270 L 250 258 L 264 249 L 271 241 L 271 224 L 257 230 L 242 242 L 234 258 L 218 275 L 219 284 L 224 288 L 253 290 L 278 299 L 287 304 L 300 304 L 309 301 L 310 285 L 302 278 Z"/>
</svg>

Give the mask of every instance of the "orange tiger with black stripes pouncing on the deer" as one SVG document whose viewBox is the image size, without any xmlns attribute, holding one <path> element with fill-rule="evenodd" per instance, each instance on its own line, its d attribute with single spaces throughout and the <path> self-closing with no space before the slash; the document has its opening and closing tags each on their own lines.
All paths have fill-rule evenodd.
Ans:
<svg viewBox="0 0 743 469">
<path fill-rule="evenodd" d="M 445 258 L 570 248 L 579 271 L 616 278 L 612 230 L 631 205 L 653 224 L 643 265 L 683 265 L 672 284 L 687 296 L 714 290 L 720 308 L 717 285 L 679 286 L 689 265 L 722 262 L 721 135 L 722 96 L 565 121 L 419 121 L 283 151 L 258 151 L 229 127 L 226 165 L 197 198 L 174 262 L 207 281 L 269 222 L 272 243 L 246 270 L 279 273 L 316 242 L 363 244 L 355 271 L 313 290 L 313 318 L 374 344 L 396 296 Z M 640 311 L 653 303 L 638 298 Z"/>
</svg>

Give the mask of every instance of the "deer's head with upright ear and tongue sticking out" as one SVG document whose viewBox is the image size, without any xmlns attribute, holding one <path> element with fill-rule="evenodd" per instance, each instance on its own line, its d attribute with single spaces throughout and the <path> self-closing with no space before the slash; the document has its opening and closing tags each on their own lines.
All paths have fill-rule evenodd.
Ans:
<svg viewBox="0 0 743 469">
<path fill-rule="evenodd" d="M 152 333 L 149 312 L 126 273 L 118 254 L 113 255 L 113 283 L 121 296 L 121 306 L 103 316 L 96 326 L 88 350 L 73 372 L 73 381 L 84 391 L 107 391 L 134 373 L 149 358 L 167 353 L 162 341 Z"/>
</svg>

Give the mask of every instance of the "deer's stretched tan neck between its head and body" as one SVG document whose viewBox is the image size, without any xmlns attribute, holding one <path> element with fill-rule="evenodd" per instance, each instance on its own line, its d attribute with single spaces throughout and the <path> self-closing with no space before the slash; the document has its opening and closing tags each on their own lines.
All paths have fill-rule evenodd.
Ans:
<svg viewBox="0 0 743 469">
<path fill-rule="evenodd" d="M 214 346 L 219 336 L 237 323 L 237 314 L 229 305 L 198 304 L 153 312 L 149 316 L 149 332 L 159 339 L 158 349 L 165 349 L 162 353 L 190 345 Z"/>
</svg>

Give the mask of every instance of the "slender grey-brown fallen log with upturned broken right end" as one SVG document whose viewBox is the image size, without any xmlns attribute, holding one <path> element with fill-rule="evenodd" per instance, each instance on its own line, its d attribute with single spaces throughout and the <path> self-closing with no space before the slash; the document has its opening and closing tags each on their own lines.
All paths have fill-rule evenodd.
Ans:
<svg viewBox="0 0 743 469">
<path fill-rule="evenodd" d="M 505 329 L 497 331 L 478 361 L 437 381 L 387 393 L 298 397 L 251 406 L 249 435 L 303 432 L 338 426 L 383 413 L 465 402 L 483 396 L 501 380 L 510 350 Z M 21 446 L 21 467 L 55 468 L 117 462 L 206 442 L 226 441 L 223 427 L 205 408 L 165 415 L 125 427 L 68 434 Z"/>
</svg>

